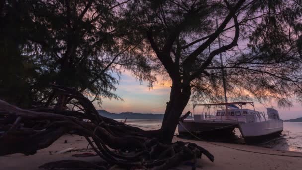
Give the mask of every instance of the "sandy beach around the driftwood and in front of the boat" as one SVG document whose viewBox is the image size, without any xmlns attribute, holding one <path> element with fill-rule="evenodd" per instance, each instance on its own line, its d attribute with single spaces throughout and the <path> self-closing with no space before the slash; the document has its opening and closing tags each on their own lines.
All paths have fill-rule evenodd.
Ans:
<svg viewBox="0 0 302 170">
<path fill-rule="evenodd" d="M 67 143 L 64 141 L 67 140 Z M 210 151 L 215 161 L 212 163 L 205 156 L 198 160 L 197 167 L 200 170 L 301 170 L 302 153 L 292 151 L 280 151 L 249 145 L 208 143 L 203 141 L 184 140 L 174 138 L 174 141 L 190 141 Z M 220 145 L 220 146 L 218 146 Z M 70 152 L 60 153 L 67 148 L 74 148 Z M 74 154 L 94 153 L 87 148 L 87 142 L 83 137 L 77 135 L 65 135 L 53 143 L 50 147 L 39 150 L 37 154 L 25 156 L 23 154 L 12 154 L 0 157 L 0 170 L 38 170 L 39 166 L 51 161 L 59 160 L 85 160 L 97 162 L 98 156 L 74 157 Z M 242 151 L 246 150 L 246 151 Z M 252 152 L 247 152 L 252 151 Z M 261 152 L 267 154 L 259 154 Z M 289 156 L 277 156 L 277 155 Z M 190 170 L 189 164 L 182 163 L 175 170 Z"/>
</svg>

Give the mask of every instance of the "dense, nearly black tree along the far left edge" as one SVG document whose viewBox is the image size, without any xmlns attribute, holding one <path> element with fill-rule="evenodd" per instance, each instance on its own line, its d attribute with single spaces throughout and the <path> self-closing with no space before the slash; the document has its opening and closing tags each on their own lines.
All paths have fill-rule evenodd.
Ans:
<svg viewBox="0 0 302 170">
<path fill-rule="evenodd" d="M 34 80 L 39 77 L 37 65 L 30 55 L 23 55 L 28 45 L 25 35 L 31 27 L 27 3 L 0 2 L 0 98 L 19 106 L 27 106 L 34 95 Z M 23 50 L 22 50 L 23 49 Z"/>
</svg>

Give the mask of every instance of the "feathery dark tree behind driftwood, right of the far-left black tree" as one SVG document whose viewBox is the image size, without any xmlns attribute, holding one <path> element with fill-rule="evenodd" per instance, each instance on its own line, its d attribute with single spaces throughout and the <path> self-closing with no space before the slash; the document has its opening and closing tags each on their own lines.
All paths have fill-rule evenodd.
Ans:
<svg viewBox="0 0 302 170">
<path fill-rule="evenodd" d="M 108 74 L 112 60 L 118 57 L 114 56 L 119 53 L 114 40 L 117 36 L 111 28 L 115 19 L 114 5 L 116 2 L 111 0 L 56 0 L 33 5 L 39 32 L 33 32 L 28 38 L 41 48 L 38 55 L 49 59 L 48 69 L 57 70 L 48 81 L 81 92 L 88 90 L 96 96 L 118 98 L 110 92 L 115 90 L 117 80 Z M 46 97 L 46 104 L 53 96 L 54 93 Z M 57 109 L 66 103 L 68 98 L 59 95 Z"/>
</svg>

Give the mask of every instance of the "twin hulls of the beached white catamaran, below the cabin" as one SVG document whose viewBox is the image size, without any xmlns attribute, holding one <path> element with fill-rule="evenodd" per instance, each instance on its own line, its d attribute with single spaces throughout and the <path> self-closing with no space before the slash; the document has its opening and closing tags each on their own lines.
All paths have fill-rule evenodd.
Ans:
<svg viewBox="0 0 302 170">
<path fill-rule="evenodd" d="M 246 143 L 261 143 L 279 135 L 283 131 L 283 121 L 270 119 L 262 122 L 232 122 L 232 121 L 190 121 L 179 122 L 179 135 L 206 136 L 207 138 L 227 137 L 234 135 L 234 128 L 239 128 Z M 189 133 L 189 132 L 190 133 Z"/>
</svg>

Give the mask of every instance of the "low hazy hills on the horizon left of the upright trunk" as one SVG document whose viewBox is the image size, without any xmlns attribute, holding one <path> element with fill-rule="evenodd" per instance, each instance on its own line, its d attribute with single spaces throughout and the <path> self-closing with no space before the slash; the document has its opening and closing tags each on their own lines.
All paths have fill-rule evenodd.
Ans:
<svg viewBox="0 0 302 170">
<path fill-rule="evenodd" d="M 122 113 L 110 113 L 106 110 L 97 110 L 101 116 L 108 117 L 111 119 L 149 119 L 149 120 L 162 120 L 163 114 L 152 114 L 152 113 L 133 113 L 133 112 L 122 112 Z M 191 116 L 188 116 L 191 118 Z"/>
</svg>

